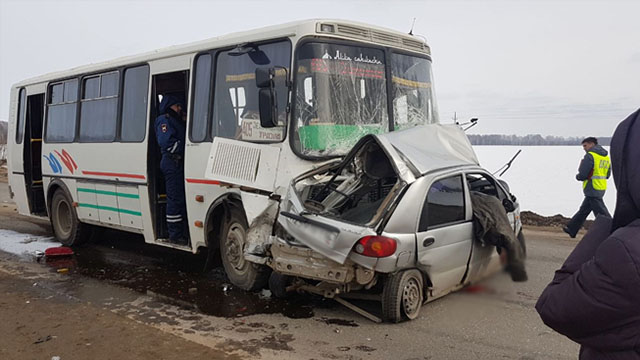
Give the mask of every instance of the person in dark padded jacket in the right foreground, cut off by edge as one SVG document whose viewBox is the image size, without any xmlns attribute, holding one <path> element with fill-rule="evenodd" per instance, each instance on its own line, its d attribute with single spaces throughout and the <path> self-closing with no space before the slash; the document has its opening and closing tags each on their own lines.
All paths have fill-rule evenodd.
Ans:
<svg viewBox="0 0 640 360">
<path fill-rule="evenodd" d="M 618 125 L 611 158 L 613 219 L 596 218 L 536 304 L 580 359 L 640 359 L 640 110 Z"/>
</svg>

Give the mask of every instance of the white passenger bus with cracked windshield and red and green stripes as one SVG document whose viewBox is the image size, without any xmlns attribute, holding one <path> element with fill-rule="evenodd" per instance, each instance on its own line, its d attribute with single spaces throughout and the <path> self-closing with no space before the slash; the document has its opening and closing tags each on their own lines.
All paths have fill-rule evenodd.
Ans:
<svg viewBox="0 0 640 360">
<path fill-rule="evenodd" d="M 162 96 L 187 100 L 190 243 L 167 241 L 154 120 Z M 25 80 L 11 89 L 10 194 L 75 245 L 100 227 L 147 243 L 220 254 L 230 280 L 265 281 L 247 242 L 274 231 L 297 175 L 365 134 L 438 121 L 421 38 L 307 20 L 172 46 Z"/>
</svg>

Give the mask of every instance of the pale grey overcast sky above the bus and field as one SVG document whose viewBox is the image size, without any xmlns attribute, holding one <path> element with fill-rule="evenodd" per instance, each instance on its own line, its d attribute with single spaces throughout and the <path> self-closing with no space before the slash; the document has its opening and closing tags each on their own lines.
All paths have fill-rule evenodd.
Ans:
<svg viewBox="0 0 640 360">
<path fill-rule="evenodd" d="M 640 1 L 0 0 L 0 119 L 13 83 L 308 18 L 424 35 L 442 122 L 475 133 L 610 136 L 640 107 Z"/>
</svg>

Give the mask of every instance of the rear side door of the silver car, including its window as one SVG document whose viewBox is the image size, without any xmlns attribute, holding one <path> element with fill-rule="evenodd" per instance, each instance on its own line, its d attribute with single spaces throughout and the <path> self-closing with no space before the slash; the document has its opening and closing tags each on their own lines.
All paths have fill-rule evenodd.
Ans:
<svg viewBox="0 0 640 360">
<path fill-rule="evenodd" d="M 433 284 L 433 297 L 462 283 L 473 242 L 469 200 L 462 174 L 434 180 L 420 214 L 418 267 Z"/>
</svg>

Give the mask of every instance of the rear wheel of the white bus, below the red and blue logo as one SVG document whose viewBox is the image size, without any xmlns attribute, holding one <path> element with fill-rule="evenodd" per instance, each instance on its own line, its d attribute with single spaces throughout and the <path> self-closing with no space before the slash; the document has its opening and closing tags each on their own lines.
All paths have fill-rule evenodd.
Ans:
<svg viewBox="0 0 640 360">
<path fill-rule="evenodd" d="M 51 226 L 56 239 L 65 246 L 75 246 L 89 237 L 91 227 L 78 220 L 71 199 L 58 189 L 51 200 Z"/>
</svg>

